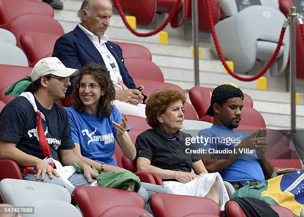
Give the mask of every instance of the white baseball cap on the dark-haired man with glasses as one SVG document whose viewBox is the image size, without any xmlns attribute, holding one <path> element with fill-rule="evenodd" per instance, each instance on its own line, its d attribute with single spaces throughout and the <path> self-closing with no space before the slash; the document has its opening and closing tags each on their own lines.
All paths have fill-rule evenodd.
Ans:
<svg viewBox="0 0 304 217">
<path fill-rule="evenodd" d="M 47 57 L 39 60 L 34 66 L 30 77 L 32 81 L 37 80 L 47 74 L 54 74 L 60 77 L 69 77 L 77 75 L 78 70 L 65 67 L 57 57 Z"/>
</svg>

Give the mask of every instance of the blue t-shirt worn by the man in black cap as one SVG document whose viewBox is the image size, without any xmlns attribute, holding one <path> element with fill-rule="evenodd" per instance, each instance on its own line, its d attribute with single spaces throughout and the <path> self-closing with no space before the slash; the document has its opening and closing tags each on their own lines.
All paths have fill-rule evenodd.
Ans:
<svg viewBox="0 0 304 217">
<path fill-rule="evenodd" d="M 220 150 L 225 148 L 233 149 L 237 143 L 240 143 L 249 134 L 213 125 L 211 128 L 201 130 L 198 133 L 198 137 L 200 138 L 201 136 L 206 139 L 196 144 L 198 148 Z M 265 181 L 264 173 L 255 151 L 239 155 L 226 169 L 219 172 L 223 180 L 228 182 Z"/>
</svg>

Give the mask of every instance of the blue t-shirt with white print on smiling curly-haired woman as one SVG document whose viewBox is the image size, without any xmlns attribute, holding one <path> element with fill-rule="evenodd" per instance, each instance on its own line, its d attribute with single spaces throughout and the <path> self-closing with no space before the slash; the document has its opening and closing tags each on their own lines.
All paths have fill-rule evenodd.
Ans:
<svg viewBox="0 0 304 217">
<path fill-rule="evenodd" d="M 118 166 L 113 158 L 115 152 L 116 129 L 112 121 L 120 123 L 122 116 L 114 111 L 107 118 L 98 118 L 86 112 L 77 112 L 75 107 L 67 108 L 72 129 L 72 140 L 79 143 L 81 155 L 97 162 Z M 129 126 L 127 130 L 130 130 Z"/>
</svg>

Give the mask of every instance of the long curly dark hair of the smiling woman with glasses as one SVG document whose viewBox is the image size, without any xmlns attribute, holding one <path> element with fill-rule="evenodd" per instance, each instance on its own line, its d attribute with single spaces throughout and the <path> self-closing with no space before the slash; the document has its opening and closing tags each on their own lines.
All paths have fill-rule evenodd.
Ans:
<svg viewBox="0 0 304 217">
<path fill-rule="evenodd" d="M 74 83 L 72 105 L 75 107 L 77 112 L 82 112 L 84 110 L 83 102 L 79 97 L 79 89 L 77 88 L 77 84 L 80 83 L 81 78 L 85 74 L 92 75 L 96 82 L 100 85 L 101 90 L 104 91 L 104 95 L 100 96 L 98 102 L 98 118 L 106 118 L 110 116 L 111 112 L 113 111 L 112 101 L 115 99 L 115 88 L 108 70 L 97 63 L 88 63 L 80 70 Z"/>
</svg>

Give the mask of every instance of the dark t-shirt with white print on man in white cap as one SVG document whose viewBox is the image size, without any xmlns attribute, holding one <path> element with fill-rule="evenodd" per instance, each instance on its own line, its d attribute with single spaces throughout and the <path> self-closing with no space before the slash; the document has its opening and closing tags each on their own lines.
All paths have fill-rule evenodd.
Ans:
<svg viewBox="0 0 304 217">
<path fill-rule="evenodd" d="M 43 130 L 54 159 L 58 160 L 58 149 L 72 149 L 69 117 L 65 109 L 54 103 L 52 109 L 45 109 L 35 98 L 37 108 L 45 116 Z M 16 144 L 23 152 L 43 159 L 37 139 L 37 115 L 30 102 L 23 96 L 10 101 L 0 113 L 0 140 Z"/>
</svg>

